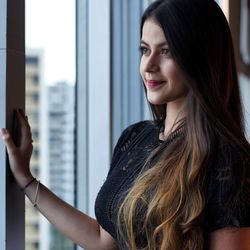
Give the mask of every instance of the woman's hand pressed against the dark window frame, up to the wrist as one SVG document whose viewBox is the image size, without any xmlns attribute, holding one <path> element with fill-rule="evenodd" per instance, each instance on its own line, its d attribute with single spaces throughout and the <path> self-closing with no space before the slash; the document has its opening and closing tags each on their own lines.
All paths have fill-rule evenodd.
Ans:
<svg viewBox="0 0 250 250">
<path fill-rule="evenodd" d="M 7 129 L 0 129 L 0 135 L 7 148 L 11 171 L 18 184 L 23 187 L 33 178 L 30 172 L 30 158 L 33 151 L 33 140 L 27 116 L 25 116 L 22 110 L 16 111 L 16 114 L 19 121 L 18 129 L 20 130 L 20 145 L 15 145 L 13 138 Z"/>
</svg>

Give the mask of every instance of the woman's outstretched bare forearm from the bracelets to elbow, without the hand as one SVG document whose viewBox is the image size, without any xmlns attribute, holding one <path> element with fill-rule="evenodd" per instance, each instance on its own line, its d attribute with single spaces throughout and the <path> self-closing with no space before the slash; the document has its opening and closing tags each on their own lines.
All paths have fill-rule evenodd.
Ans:
<svg viewBox="0 0 250 250">
<path fill-rule="evenodd" d="M 26 195 L 34 203 L 37 183 L 33 182 Z M 84 249 L 117 249 L 113 238 L 97 221 L 70 206 L 40 184 L 37 208 L 64 235 Z"/>
</svg>

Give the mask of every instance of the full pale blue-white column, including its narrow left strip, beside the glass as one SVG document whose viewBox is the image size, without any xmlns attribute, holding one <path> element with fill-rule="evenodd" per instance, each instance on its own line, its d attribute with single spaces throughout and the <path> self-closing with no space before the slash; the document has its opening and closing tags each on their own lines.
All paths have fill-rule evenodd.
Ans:
<svg viewBox="0 0 250 250">
<path fill-rule="evenodd" d="M 77 1 L 77 207 L 94 216 L 110 164 L 110 1 Z"/>
</svg>

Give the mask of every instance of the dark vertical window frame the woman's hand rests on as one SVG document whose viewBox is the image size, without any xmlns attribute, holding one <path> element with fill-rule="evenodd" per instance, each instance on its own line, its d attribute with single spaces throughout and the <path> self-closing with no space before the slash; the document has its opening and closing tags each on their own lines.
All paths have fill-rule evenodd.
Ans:
<svg viewBox="0 0 250 250">
<path fill-rule="evenodd" d="M 13 111 L 25 105 L 24 0 L 0 1 L 0 127 L 12 130 Z M 24 194 L 14 181 L 0 142 L 0 248 L 25 249 Z"/>
</svg>

